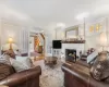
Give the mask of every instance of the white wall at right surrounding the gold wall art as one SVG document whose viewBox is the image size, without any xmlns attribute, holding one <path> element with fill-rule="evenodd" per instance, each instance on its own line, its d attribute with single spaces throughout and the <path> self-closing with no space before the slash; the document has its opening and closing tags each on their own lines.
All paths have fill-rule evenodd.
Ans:
<svg viewBox="0 0 109 87">
<path fill-rule="evenodd" d="M 101 28 L 97 32 L 96 30 L 96 25 L 97 24 L 100 24 L 101 25 Z M 100 34 L 104 32 L 105 34 L 107 34 L 107 26 L 106 26 L 106 18 L 100 18 L 100 20 L 96 20 L 94 22 L 90 22 L 90 23 L 86 23 L 86 29 L 85 29 L 85 33 L 86 33 L 86 49 L 88 48 L 95 48 L 97 50 L 101 50 L 100 49 Z M 95 30 L 94 32 L 89 32 L 89 27 L 94 25 L 95 26 Z"/>
</svg>

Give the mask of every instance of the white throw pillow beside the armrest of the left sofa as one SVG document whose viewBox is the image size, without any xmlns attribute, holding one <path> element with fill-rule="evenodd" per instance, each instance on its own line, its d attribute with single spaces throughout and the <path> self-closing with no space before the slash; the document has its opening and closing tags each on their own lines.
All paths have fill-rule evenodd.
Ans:
<svg viewBox="0 0 109 87">
<path fill-rule="evenodd" d="M 11 61 L 11 65 L 14 67 L 16 72 L 21 72 L 29 69 L 26 64 L 19 62 L 15 59 L 10 59 L 10 61 Z"/>
</svg>

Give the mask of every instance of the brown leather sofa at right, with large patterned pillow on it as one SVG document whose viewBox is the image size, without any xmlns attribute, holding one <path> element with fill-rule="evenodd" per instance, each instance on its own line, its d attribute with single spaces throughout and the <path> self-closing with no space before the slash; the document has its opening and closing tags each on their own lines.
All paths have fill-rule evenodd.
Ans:
<svg viewBox="0 0 109 87">
<path fill-rule="evenodd" d="M 109 87 L 109 84 L 94 79 L 89 67 L 80 63 L 66 62 L 62 65 L 65 87 Z"/>
</svg>

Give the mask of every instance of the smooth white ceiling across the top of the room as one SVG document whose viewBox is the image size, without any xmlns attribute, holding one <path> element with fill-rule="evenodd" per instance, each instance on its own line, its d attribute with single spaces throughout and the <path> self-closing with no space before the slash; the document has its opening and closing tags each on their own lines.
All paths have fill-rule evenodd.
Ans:
<svg viewBox="0 0 109 87">
<path fill-rule="evenodd" d="M 107 16 L 109 0 L 0 0 L 4 17 L 28 21 L 37 27 L 80 23 L 78 14 L 87 12 L 87 20 Z"/>
</svg>

